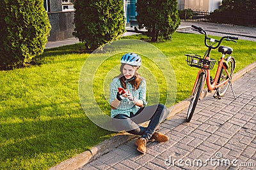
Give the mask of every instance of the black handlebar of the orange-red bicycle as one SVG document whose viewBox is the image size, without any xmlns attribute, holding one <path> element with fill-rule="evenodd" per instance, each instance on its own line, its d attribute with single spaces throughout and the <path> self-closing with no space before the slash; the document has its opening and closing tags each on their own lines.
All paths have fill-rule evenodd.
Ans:
<svg viewBox="0 0 256 170">
<path fill-rule="evenodd" d="M 209 37 L 207 36 L 207 32 L 206 32 L 202 27 L 198 27 L 198 26 L 196 26 L 196 25 L 191 25 L 191 27 L 194 28 L 194 31 L 198 31 L 198 32 L 200 32 L 200 34 L 204 34 L 204 36 L 205 36 L 204 44 L 205 44 L 205 46 L 207 46 L 208 48 L 211 48 L 211 49 L 216 49 L 216 48 L 218 48 L 218 46 L 220 46 L 221 41 L 222 41 L 223 39 L 225 39 L 225 40 L 227 40 L 227 41 L 234 41 L 233 39 L 238 39 L 238 37 L 234 37 L 234 36 L 223 36 L 223 37 L 221 37 L 220 40 L 218 40 L 218 39 L 212 39 L 212 38 L 209 38 Z M 208 45 L 208 44 L 207 44 L 207 41 L 206 41 L 207 39 L 209 39 L 209 40 L 212 41 L 212 42 L 218 42 L 218 45 L 217 45 L 217 46 Z M 236 42 L 236 41 L 234 41 L 234 42 Z"/>
</svg>

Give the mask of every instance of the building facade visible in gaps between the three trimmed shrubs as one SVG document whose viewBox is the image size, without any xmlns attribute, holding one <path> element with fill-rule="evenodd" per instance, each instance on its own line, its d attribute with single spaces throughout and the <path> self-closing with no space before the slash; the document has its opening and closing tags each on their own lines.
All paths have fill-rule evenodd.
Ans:
<svg viewBox="0 0 256 170">
<path fill-rule="evenodd" d="M 136 0 L 123 0 L 126 25 L 136 25 Z M 72 38 L 74 31 L 74 4 L 71 0 L 44 0 L 51 31 L 48 41 Z"/>
</svg>

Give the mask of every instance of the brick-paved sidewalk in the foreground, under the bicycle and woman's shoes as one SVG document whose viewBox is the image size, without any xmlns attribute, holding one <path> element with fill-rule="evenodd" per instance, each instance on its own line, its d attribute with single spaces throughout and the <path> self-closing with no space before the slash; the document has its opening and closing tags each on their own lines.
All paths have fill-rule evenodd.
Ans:
<svg viewBox="0 0 256 170">
<path fill-rule="evenodd" d="M 170 141 L 148 143 L 147 154 L 132 139 L 79 169 L 256 169 L 256 68 L 233 87 L 237 99 L 230 88 L 205 97 L 189 123 L 187 110 L 165 120 L 159 131 Z"/>
</svg>

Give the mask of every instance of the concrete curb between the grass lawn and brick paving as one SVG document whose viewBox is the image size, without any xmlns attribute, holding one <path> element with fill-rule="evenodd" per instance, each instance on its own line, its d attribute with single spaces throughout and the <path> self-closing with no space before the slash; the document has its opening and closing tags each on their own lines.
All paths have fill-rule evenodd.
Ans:
<svg viewBox="0 0 256 170">
<path fill-rule="evenodd" d="M 252 70 L 254 67 L 256 67 L 256 62 L 253 62 L 247 67 L 244 67 L 240 71 L 238 71 L 236 74 L 234 74 L 232 80 L 236 81 L 238 78 L 243 76 L 248 71 Z M 209 96 L 211 93 L 207 93 L 207 89 L 204 90 L 205 95 Z M 202 98 L 204 98 L 202 97 Z M 172 110 L 168 118 L 173 117 L 175 114 L 179 113 L 180 111 L 188 108 L 189 106 L 189 99 L 184 99 L 184 101 L 181 101 L 180 103 L 175 104 L 173 107 L 169 108 L 169 110 Z M 50 170 L 56 170 L 56 169 L 78 169 L 79 167 L 84 166 L 88 162 L 97 159 L 100 157 L 100 155 L 104 155 L 111 150 L 114 150 L 118 146 L 122 145 L 123 143 L 126 143 L 127 141 L 136 138 L 137 136 L 128 134 L 127 132 L 120 132 L 116 134 L 116 136 L 113 136 L 109 139 L 106 139 L 105 141 L 102 141 L 102 143 L 99 143 L 99 145 L 93 146 L 90 151 L 86 151 L 83 153 L 80 153 L 79 155 L 76 155 L 75 157 L 65 160 L 64 162 L 61 162 L 57 166 L 51 167 Z"/>
</svg>

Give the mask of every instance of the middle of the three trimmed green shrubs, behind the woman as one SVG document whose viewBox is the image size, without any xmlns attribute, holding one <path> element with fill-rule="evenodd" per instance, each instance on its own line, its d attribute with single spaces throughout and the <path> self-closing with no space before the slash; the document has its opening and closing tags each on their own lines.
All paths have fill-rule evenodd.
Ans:
<svg viewBox="0 0 256 170">
<path fill-rule="evenodd" d="M 84 42 L 87 49 L 95 50 L 125 32 L 124 1 L 75 1 L 74 8 L 73 35 Z"/>
</svg>

